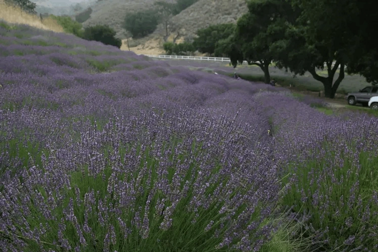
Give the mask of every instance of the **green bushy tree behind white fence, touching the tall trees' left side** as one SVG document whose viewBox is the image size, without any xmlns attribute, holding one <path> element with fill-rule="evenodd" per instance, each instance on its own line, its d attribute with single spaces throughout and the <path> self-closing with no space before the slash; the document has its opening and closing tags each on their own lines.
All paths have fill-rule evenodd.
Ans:
<svg viewBox="0 0 378 252">
<path fill-rule="evenodd" d="M 202 53 L 214 54 L 216 43 L 229 38 L 235 31 L 235 24 L 212 25 L 196 32 L 193 46 Z"/>
</svg>

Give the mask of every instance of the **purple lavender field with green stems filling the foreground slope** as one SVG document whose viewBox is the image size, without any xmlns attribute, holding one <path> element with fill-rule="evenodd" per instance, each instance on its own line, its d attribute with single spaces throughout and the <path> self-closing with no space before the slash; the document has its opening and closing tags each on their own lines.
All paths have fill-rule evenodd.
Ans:
<svg viewBox="0 0 378 252">
<path fill-rule="evenodd" d="M 378 251 L 377 117 L 4 22 L 0 85 L 2 251 Z"/>
</svg>

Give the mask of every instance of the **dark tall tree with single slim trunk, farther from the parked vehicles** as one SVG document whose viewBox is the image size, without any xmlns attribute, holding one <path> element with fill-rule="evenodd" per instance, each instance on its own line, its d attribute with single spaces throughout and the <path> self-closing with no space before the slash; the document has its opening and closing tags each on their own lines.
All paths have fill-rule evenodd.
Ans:
<svg viewBox="0 0 378 252">
<path fill-rule="evenodd" d="M 284 36 L 284 24 L 295 14 L 290 4 L 282 0 L 250 1 L 248 13 L 238 20 L 234 38 L 219 41 L 216 51 L 226 51 L 234 67 L 244 60 L 260 67 L 265 83 L 269 83 L 269 66 L 276 59 L 270 46 Z"/>
</svg>

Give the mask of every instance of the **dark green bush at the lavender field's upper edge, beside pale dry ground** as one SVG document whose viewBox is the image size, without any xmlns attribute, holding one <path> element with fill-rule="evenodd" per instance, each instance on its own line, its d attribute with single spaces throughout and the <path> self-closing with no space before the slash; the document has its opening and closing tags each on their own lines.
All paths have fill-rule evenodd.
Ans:
<svg viewBox="0 0 378 252">
<path fill-rule="evenodd" d="M 107 25 L 95 25 L 85 28 L 83 38 L 86 40 L 95 40 L 106 45 L 121 47 L 122 41 L 115 37 L 116 32 Z"/>
</svg>

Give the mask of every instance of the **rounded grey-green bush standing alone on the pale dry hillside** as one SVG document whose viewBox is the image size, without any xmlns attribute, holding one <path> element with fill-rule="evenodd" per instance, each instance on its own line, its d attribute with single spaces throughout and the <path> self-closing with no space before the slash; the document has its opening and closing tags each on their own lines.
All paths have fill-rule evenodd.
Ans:
<svg viewBox="0 0 378 252">
<path fill-rule="evenodd" d="M 156 10 L 145 10 L 126 14 L 123 28 L 134 38 L 144 37 L 156 30 L 159 17 Z"/>
</svg>

